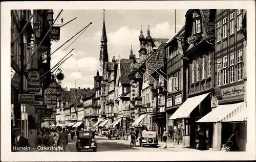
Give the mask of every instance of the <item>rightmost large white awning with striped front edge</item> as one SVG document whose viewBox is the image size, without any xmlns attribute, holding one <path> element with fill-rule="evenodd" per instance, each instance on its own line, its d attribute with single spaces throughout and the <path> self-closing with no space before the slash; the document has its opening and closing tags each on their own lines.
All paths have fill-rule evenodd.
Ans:
<svg viewBox="0 0 256 162">
<path fill-rule="evenodd" d="M 225 122 L 244 109 L 244 102 L 219 105 L 197 122 Z"/>
</svg>

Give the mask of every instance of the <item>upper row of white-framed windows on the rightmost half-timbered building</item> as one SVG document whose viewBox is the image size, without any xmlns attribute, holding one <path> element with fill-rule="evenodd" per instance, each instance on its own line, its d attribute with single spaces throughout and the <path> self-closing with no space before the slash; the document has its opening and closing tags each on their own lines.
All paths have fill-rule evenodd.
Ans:
<svg viewBox="0 0 256 162">
<path fill-rule="evenodd" d="M 229 29 L 229 35 L 234 34 L 234 26 L 237 24 L 237 31 L 241 30 L 241 24 L 243 20 L 243 10 L 237 10 L 237 18 L 235 18 L 235 12 L 232 12 L 229 14 L 229 16 L 223 18 L 221 21 L 217 22 L 216 24 L 216 38 L 217 42 L 221 41 L 221 30 L 223 30 L 223 39 L 227 38 L 228 35 L 228 29 Z M 237 19 L 237 21 L 236 21 Z M 222 23 L 221 23 L 222 22 Z M 229 22 L 229 25 L 228 25 Z M 221 28 L 222 27 L 222 28 Z"/>
</svg>

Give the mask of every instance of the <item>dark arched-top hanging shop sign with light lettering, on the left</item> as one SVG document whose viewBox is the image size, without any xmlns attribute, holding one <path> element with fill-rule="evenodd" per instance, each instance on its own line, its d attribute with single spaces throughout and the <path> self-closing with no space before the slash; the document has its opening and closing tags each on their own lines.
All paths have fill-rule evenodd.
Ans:
<svg viewBox="0 0 256 162">
<path fill-rule="evenodd" d="M 40 71 L 37 69 L 29 69 L 28 70 L 28 87 L 27 91 L 29 92 L 40 92 L 41 84 L 40 84 Z"/>
</svg>

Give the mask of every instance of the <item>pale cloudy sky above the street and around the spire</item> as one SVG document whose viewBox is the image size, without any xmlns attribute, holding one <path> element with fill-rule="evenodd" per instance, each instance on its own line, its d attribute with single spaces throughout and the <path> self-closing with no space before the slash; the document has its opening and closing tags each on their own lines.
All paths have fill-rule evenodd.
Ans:
<svg viewBox="0 0 256 162">
<path fill-rule="evenodd" d="M 60 10 L 54 11 L 54 19 Z M 176 10 L 176 32 L 185 24 L 187 10 Z M 99 53 L 100 37 L 103 26 L 102 10 L 63 10 L 58 22 L 63 24 L 77 17 L 74 21 L 60 30 L 60 40 L 52 42 L 51 52 L 69 40 L 81 29 L 92 24 L 72 44 L 77 37 L 58 49 L 51 59 L 54 67 L 72 48 L 73 54 L 60 68 L 65 75 L 62 87 L 70 88 L 93 88 L 93 76 L 96 75 Z M 175 35 L 175 11 L 174 10 L 105 10 L 105 26 L 108 37 L 109 61 L 113 56 L 116 59 L 129 59 L 131 45 L 133 53 L 139 57 L 139 35 L 142 25 L 143 35 L 147 34 L 147 26 L 150 25 L 152 38 L 170 39 Z M 69 46 L 69 47 L 68 47 Z"/>
</svg>

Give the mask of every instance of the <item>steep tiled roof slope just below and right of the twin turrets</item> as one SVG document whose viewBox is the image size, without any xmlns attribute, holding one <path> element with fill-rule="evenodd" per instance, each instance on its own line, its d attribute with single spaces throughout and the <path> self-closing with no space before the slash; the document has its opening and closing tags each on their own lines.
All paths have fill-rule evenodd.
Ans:
<svg viewBox="0 0 256 162">
<path fill-rule="evenodd" d="M 155 72 L 155 70 L 161 68 L 164 65 L 165 44 L 166 43 L 162 43 L 159 48 L 146 60 L 145 70 L 147 70 L 148 73 L 152 74 Z M 148 64 L 150 64 L 150 66 Z"/>
</svg>

